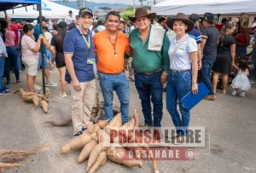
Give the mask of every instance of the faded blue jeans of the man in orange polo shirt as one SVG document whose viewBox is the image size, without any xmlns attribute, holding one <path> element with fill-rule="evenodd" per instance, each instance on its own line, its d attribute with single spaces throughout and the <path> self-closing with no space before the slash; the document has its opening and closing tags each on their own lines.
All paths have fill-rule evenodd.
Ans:
<svg viewBox="0 0 256 173">
<path fill-rule="evenodd" d="M 104 98 L 104 112 L 106 119 L 113 118 L 113 90 L 119 96 L 121 104 L 120 111 L 123 123 L 129 121 L 129 100 L 130 100 L 130 85 L 125 77 L 125 72 L 119 75 L 109 75 L 98 72 L 102 95 Z"/>
</svg>

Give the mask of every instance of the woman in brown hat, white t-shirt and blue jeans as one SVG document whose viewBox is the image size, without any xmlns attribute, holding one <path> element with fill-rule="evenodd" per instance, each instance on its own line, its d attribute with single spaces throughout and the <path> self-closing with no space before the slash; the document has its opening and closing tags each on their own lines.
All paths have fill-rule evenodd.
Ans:
<svg viewBox="0 0 256 173">
<path fill-rule="evenodd" d="M 178 137 L 183 141 L 183 136 L 187 136 L 190 113 L 180 104 L 180 117 L 177 112 L 177 99 L 180 101 L 189 91 L 192 91 L 193 94 L 198 92 L 196 84 L 198 49 L 195 39 L 187 34 L 193 30 L 195 25 L 183 13 L 178 13 L 176 17 L 166 20 L 166 25 L 177 34 L 172 38 L 168 51 L 170 71 L 166 85 L 166 107 L 176 127 L 177 134 L 172 137 Z"/>
</svg>

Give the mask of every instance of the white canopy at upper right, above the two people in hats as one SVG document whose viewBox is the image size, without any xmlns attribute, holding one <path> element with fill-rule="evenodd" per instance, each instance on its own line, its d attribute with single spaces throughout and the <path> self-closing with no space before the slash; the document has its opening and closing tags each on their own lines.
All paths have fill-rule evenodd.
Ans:
<svg viewBox="0 0 256 173">
<path fill-rule="evenodd" d="M 256 0 L 166 0 L 151 8 L 158 15 L 184 14 L 256 14 Z"/>
</svg>

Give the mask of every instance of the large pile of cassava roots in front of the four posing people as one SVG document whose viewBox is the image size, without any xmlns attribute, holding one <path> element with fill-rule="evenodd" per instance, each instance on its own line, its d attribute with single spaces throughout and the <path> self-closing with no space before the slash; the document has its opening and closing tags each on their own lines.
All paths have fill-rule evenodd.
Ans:
<svg viewBox="0 0 256 173">
<path fill-rule="evenodd" d="M 143 166 L 141 158 L 127 159 L 128 151 L 140 151 L 146 150 L 147 153 L 150 150 L 148 144 L 146 143 L 135 143 L 134 147 L 127 147 L 126 140 L 132 142 L 134 137 L 129 135 L 125 136 L 123 143 L 119 143 L 119 140 L 113 139 L 113 134 L 111 129 L 114 130 L 133 130 L 133 135 L 140 136 L 137 131 L 139 127 L 139 119 L 137 111 L 134 110 L 134 115 L 130 118 L 130 121 L 126 124 L 122 124 L 121 114 L 118 113 L 113 117 L 113 119 L 108 123 L 108 120 L 99 120 L 97 124 L 88 124 L 87 130 L 84 134 L 73 138 L 68 141 L 63 147 L 61 147 L 61 153 L 66 154 L 71 150 L 82 149 L 77 162 L 79 164 L 83 163 L 84 160 L 88 159 L 87 172 L 93 173 L 102 166 L 106 164 L 107 158 L 117 164 L 124 164 L 125 166 Z M 120 134 L 119 134 L 120 135 Z M 120 152 L 121 151 L 121 152 Z M 122 158 L 124 155 L 126 158 Z M 154 173 L 158 173 L 156 159 L 151 155 L 151 160 L 153 163 Z"/>
</svg>

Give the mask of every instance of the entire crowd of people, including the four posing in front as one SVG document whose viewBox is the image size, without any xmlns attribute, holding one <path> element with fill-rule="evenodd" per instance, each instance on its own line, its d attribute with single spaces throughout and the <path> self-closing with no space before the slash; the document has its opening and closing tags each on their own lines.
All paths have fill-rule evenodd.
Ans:
<svg viewBox="0 0 256 173">
<path fill-rule="evenodd" d="M 144 124 L 141 125 L 161 126 L 166 84 L 166 109 L 177 129 L 177 134 L 172 137 L 183 140 L 187 136 L 190 112 L 181 104 L 178 111 L 177 104 L 190 91 L 194 95 L 198 93 L 200 80 L 210 91 L 205 99 L 214 101 L 219 76 L 222 78 L 222 93 L 226 94 L 230 74 L 234 74 L 236 78 L 231 84 L 234 88 L 231 94 L 236 95 L 240 89 L 240 96 L 245 97 L 251 84 L 244 58 L 250 40 L 248 34 L 255 28 L 249 30 L 248 20 L 242 18 L 236 27 L 223 20 L 219 29 L 211 13 L 202 18 L 198 14 L 191 14 L 188 18 L 183 13 L 167 19 L 155 18 L 155 13 L 148 14 L 139 8 L 129 21 L 121 19 L 115 11 L 93 21 L 92 10 L 82 8 L 77 20 L 69 11 L 65 21 L 53 26 L 53 34 L 49 32 L 44 16 L 41 23 L 43 34 L 40 34 L 39 22 L 35 26 L 25 24 L 19 45 L 19 35 L 15 32 L 21 26 L 12 23 L 6 15 L 6 20 L 1 21 L 0 94 L 9 94 L 11 65 L 16 83 L 20 83 L 20 49 L 29 92 L 41 89 L 35 84 L 35 79 L 42 63 L 46 86 L 56 86 L 49 78 L 49 69 L 56 66 L 61 78 L 61 97 L 67 97 L 66 86 L 71 84 L 73 136 L 76 137 L 83 134 L 90 123 L 96 75 L 102 89 L 106 118 L 113 118 L 115 91 L 122 121 L 124 124 L 129 121 L 130 84 L 125 76 L 125 70 L 128 70 L 143 108 Z M 254 66 L 255 52 L 256 42 L 253 45 Z M 253 72 L 251 82 L 256 81 L 255 68 Z M 6 78 L 6 84 L 2 78 Z"/>
</svg>

